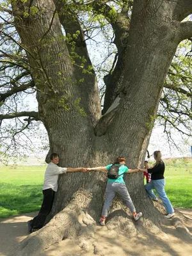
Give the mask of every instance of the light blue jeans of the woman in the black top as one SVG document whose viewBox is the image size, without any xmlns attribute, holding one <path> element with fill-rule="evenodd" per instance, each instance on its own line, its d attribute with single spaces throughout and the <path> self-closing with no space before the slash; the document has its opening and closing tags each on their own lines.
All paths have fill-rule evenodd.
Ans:
<svg viewBox="0 0 192 256">
<path fill-rule="evenodd" d="M 173 206 L 168 199 L 165 191 L 164 191 L 164 185 L 165 185 L 165 180 L 151 180 L 149 183 L 145 185 L 145 189 L 147 191 L 148 197 L 150 199 L 156 198 L 156 195 L 154 194 L 154 191 L 152 189 L 156 189 L 157 195 L 159 198 L 162 200 L 164 208 L 168 213 L 174 212 Z"/>
</svg>

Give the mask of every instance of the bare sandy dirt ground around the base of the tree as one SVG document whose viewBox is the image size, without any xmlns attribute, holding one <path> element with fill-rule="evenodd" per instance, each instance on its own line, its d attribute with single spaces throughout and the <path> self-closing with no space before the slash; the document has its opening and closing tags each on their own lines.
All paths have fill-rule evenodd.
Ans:
<svg viewBox="0 0 192 256">
<path fill-rule="evenodd" d="M 192 219 L 192 209 L 179 209 Z M 0 255 L 7 256 L 17 244 L 28 236 L 27 221 L 37 212 L 14 216 L 0 220 Z M 54 244 L 36 256 L 189 256 L 192 255 L 192 240 L 179 234 L 175 227 L 163 227 L 164 235 L 130 237 L 116 235 L 106 227 L 97 226 L 90 239 L 76 244 L 74 240 L 65 239 Z M 189 227 L 192 235 L 192 227 Z"/>
</svg>

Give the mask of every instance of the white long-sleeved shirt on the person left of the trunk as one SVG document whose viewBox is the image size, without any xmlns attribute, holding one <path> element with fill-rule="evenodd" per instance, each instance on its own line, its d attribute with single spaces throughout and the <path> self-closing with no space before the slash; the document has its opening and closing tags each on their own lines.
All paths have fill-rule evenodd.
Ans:
<svg viewBox="0 0 192 256">
<path fill-rule="evenodd" d="M 49 163 L 45 171 L 43 190 L 52 188 L 53 191 L 58 191 L 58 177 L 61 173 L 67 173 L 67 168 Z"/>
</svg>

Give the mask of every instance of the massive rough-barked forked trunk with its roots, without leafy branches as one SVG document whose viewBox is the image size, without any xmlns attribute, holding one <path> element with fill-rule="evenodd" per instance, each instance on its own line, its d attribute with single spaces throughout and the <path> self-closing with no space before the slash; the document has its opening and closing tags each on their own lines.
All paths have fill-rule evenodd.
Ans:
<svg viewBox="0 0 192 256">
<path fill-rule="evenodd" d="M 73 64 L 69 57 L 72 49 L 63 37 L 61 24 L 64 28 L 67 24 L 70 30 L 73 22 L 70 24 L 68 17 L 72 13 L 59 17 L 56 12 L 61 3 L 63 8 L 67 3 L 35 0 L 38 12 L 24 17 L 28 2 L 13 1 L 13 15 L 38 90 L 39 116 L 49 135 L 50 152 L 58 152 L 60 166 L 66 167 L 102 166 L 120 155 L 127 158 L 129 168 L 140 166 L 173 54 L 179 42 L 192 35 L 191 24 L 180 24 L 180 1 L 134 0 L 123 83 L 118 84 L 119 93 L 103 116 L 95 73 L 92 70 L 84 74 L 81 61 Z M 189 2 L 183 4 L 183 13 L 185 8 L 189 12 Z M 82 33 L 76 51 L 89 65 Z M 137 228 L 141 232 L 161 232 L 161 223 L 168 220 L 161 214 L 165 213 L 161 204 L 154 207 L 148 200 L 141 173 L 127 175 L 125 182 L 137 211 L 143 212 L 143 221 L 135 226 L 130 212 L 117 198 L 110 210 L 108 228 L 134 230 L 135 234 Z M 90 236 L 99 219 L 105 187 L 105 173 L 61 175 L 49 223 L 24 239 L 13 255 L 33 255 L 66 237 Z M 176 226 L 181 227 L 178 223 Z"/>
</svg>

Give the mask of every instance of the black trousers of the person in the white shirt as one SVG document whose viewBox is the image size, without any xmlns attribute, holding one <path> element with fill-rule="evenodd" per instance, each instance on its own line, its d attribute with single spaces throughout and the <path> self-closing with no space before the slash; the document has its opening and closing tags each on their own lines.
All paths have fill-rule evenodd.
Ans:
<svg viewBox="0 0 192 256">
<path fill-rule="evenodd" d="M 44 227 L 45 220 L 49 212 L 51 212 L 52 204 L 54 201 L 55 191 L 51 188 L 43 190 L 44 200 L 40 212 L 38 215 L 31 221 L 31 228 L 39 229 Z"/>
</svg>

